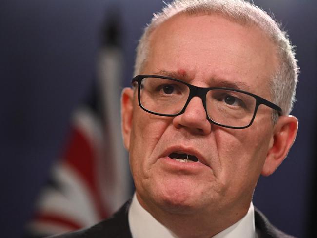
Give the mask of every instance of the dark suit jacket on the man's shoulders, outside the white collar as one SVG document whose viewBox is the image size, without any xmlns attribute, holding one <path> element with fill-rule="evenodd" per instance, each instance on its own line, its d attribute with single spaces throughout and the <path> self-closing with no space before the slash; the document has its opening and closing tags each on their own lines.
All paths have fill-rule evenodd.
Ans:
<svg viewBox="0 0 317 238">
<path fill-rule="evenodd" d="M 128 222 L 130 204 L 131 200 L 127 201 L 112 217 L 92 227 L 52 238 L 132 238 Z M 255 223 L 260 233 L 259 238 L 294 238 L 274 227 L 257 209 L 255 209 Z"/>
</svg>

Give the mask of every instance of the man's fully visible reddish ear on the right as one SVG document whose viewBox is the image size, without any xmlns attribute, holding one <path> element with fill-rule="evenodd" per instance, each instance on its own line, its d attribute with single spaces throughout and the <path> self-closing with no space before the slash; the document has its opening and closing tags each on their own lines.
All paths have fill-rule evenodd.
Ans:
<svg viewBox="0 0 317 238">
<path fill-rule="evenodd" d="M 295 141 L 297 128 L 298 121 L 296 117 L 280 116 L 278 118 L 270 141 L 270 148 L 262 167 L 261 174 L 263 176 L 273 174 L 277 167 L 286 158 Z"/>
</svg>

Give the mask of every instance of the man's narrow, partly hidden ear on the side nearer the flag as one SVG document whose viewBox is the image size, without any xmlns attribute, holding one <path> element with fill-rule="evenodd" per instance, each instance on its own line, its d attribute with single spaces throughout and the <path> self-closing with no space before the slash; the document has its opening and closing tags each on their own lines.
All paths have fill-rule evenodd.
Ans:
<svg viewBox="0 0 317 238">
<path fill-rule="evenodd" d="M 124 88 L 121 93 L 121 129 L 124 147 L 129 150 L 133 115 L 132 88 Z"/>
</svg>

